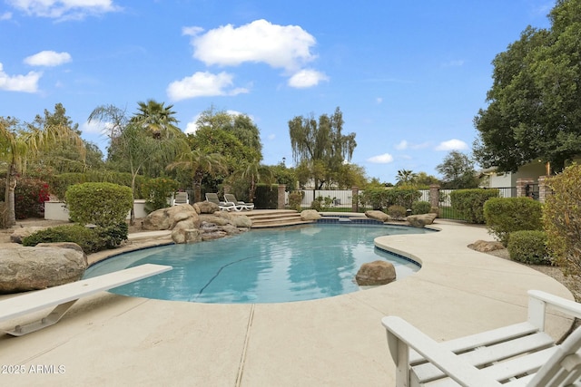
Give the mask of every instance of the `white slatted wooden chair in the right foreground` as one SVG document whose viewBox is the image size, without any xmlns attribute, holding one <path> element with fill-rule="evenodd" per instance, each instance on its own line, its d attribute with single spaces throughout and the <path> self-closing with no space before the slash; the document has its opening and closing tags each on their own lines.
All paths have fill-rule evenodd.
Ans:
<svg viewBox="0 0 581 387">
<path fill-rule="evenodd" d="M 558 345 L 545 333 L 547 306 L 579 318 L 581 304 L 538 290 L 528 297 L 527 322 L 444 343 L 397 316 L 383 317 L 396 386 L 581 385 L 581 328 Z"/>
</svg>

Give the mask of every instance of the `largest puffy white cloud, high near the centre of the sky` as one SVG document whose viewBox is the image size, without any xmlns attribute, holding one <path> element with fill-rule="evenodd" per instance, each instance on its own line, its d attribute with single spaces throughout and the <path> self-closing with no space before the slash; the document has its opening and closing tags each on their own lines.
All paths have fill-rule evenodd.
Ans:
<svg viewBox="0 0 581 387">
<path fill-rule="evenodd" d="M 298 25 L 271 24 L 261 19 L 240 27 L 227 24 L 205 34 L 202 31 L 199 27 L 182 29 L 192 35 L 193 57 L 207 65 L 267 63 L 294 73 L 315 58 L 310 53 L 315 38 Z"/>
</svg>

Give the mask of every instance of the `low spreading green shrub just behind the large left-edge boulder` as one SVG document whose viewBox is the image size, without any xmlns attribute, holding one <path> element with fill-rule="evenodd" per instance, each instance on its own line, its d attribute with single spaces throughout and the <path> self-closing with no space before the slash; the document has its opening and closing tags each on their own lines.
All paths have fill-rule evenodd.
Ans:
<svg viewBox="0 0 581 387">
<path fill-rule="evenodd" d="M 85 254 L 96 253 L 107 248 L 119 247 L 127 240 L 126 223 L 109 227 L 84 227 L 64 225 L 37 231 L 22 240 L 23 246 L 36 246 L 39 243 L 74 242 L 83 248 Z"/>
</svg>

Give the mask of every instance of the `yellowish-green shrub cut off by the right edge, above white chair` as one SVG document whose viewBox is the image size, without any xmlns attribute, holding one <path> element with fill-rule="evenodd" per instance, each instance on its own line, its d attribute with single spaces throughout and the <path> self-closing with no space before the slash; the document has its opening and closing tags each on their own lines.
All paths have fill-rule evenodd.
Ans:
<svg viewBox="0 0 581 387">
<path fill-rule="evenodd" d="M 553 195 L 543 206 L 547 246 L 566 274 L 581 279 L 581 166 L 572 165 L 547 179 Z"/>
</svg>

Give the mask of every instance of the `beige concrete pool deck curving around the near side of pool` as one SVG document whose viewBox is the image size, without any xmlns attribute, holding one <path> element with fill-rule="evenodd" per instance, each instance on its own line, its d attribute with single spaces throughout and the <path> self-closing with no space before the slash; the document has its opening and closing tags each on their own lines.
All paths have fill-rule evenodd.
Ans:
<svg viewBox="0 0 581 387">
<path fill-rule="evenodd" d="M 492 240 L 485 227 L 441 219 L 434 227 L 440 232 L 376 239 L 422 268 L 349 295 L 256 305 L 109 293 L 81 299 L 52 327 L 0 334 L 0 385 L 389 386 L 395 367 L 384 315 L 402 316 L 441 341 L 524 321 L 528 289 L 573 299 L 549 276 L 469 249 Z M 551 314 L 547 324 L 560 337 L 572 320 Z M 3 372 L 10 365 L 24 373 Z"/>
</svg>

